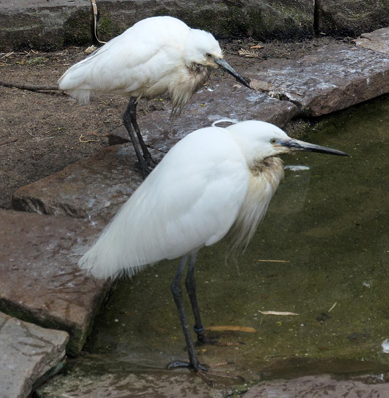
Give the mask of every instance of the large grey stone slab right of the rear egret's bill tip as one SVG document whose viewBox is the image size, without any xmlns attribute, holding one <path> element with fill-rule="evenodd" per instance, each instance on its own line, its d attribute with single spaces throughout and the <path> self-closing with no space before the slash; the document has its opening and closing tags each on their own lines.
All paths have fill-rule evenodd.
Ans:
<svg viewBox="0 0 389 398">
<path fill-rule="evenodd" d="M 269 59 L 249 68 L 251 86 L 297 105 L 305 116 L 344 109 L 389 92 L 385 54 L 332 44 L 300 60 Z"/>
</svg>

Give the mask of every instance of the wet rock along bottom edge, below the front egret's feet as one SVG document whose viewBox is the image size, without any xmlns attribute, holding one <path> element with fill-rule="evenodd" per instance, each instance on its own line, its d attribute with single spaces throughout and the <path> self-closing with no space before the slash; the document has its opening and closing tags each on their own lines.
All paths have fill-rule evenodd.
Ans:
<svg viewBox="0 0 389 398">
<path fill-rule="evenodd" d="M 124 365 L 104 369 L 102 359 L 89 357 L 81 361 L 71 373 L 54 377 L 36 391 L 38 398 L 222 398 L 225 387 L 212 388 L 189 372 L 126 371 Z"/>
</svg>

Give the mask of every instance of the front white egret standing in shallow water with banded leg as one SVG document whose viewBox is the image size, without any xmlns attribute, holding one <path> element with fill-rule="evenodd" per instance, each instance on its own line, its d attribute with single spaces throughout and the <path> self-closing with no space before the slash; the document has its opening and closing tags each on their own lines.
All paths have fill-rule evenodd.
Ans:
<svg viewBox="0 0 389 398">
<path fill-rule="evenodd" d="M 179 141 L 107 225 L 79 266 L 96 278 L 134 275 L 148 264 L 181 257 L 172 284 L 189 364 L 204 380 L 184 310 L 181 280 L 191 257 L 186 288 L 194 330 L 203 339 L 194 263 L 197 251 L 228 232 L 233 249 L 245 247 L 283 177 L 277 155 L 293 151 L 344 152 L 290 138 L 273 124 L 249 120 L 226 128 L 195 130 Z"/>
</svg>

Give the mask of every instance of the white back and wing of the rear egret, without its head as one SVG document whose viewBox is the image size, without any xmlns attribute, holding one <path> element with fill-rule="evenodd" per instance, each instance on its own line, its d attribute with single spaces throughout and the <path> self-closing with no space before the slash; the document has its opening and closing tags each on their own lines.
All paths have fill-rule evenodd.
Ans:
<svg viewBox="0 0 389 398">
<path fill-rule="evenodd" d="M 58 86 L 80 103 L 88 102 L 93 91 L 136 98 L 160 95 L 168 89 L 163 77 L 177 68 L 190 30 L 169 16 L 143 19 L 69 68 Z"/>
</svg>

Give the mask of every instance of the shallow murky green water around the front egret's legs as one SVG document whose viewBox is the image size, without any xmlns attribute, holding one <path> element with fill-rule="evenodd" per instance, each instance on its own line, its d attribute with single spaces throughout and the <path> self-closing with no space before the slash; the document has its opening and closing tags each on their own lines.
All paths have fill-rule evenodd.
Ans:
<svg viewBox="0 0 389 398">
<path fill-rule="evenodd" d="M 283 157 L 285 165 L 309 170 L 285 171 L 245 254 L 226 262 L 223 242 L 200 251 L 195 275 L 204 325 L 257 330 L 209 332 L 242 344 L 198 347 L 200 362 L 233 362 L 220 369 L 248 380 L 260 374 L 386 372 L 389 354 L 381 344 L 389 339 L 388 135 L 389 96 L 322 120 L 302 139 L 351 156 Z M 177 265 L 166 261 L 119 282 L 87 351 L 128 364 L 128 370 L 186 359 L 170 292 Z"/>
</svg>

